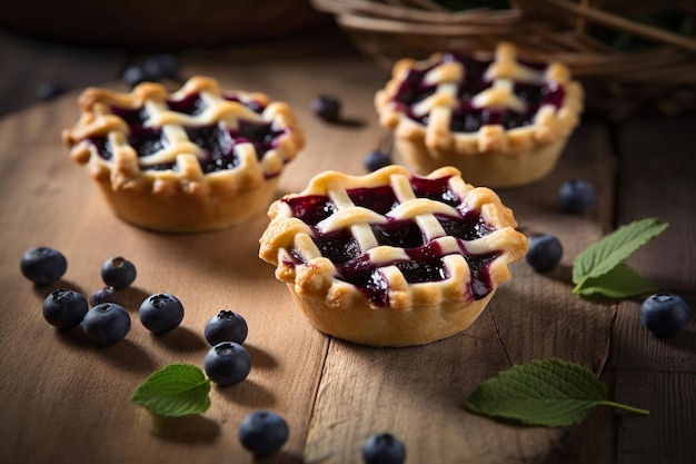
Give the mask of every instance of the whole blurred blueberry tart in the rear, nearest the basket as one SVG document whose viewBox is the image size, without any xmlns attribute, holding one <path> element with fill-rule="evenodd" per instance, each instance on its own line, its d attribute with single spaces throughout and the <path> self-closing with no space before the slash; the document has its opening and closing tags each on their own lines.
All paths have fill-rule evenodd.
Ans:
<svg viewBox="0 0 696 464">
<path fill-rule="evenodd" d="M 416 172 L 454 166 L 467 182 L 497 188 L 551 171 L 583 99 L 565 65 L 518 60 L 516 47 L 501 42 L 488 55 L 397 61 L 375 107 Z"/>
</svg>

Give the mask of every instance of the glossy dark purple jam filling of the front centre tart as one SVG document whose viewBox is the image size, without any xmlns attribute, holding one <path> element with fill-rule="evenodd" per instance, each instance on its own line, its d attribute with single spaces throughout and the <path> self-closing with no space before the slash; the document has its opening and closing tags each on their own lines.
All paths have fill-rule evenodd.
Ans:
<svg viewBox="0 0 696 464">
<path fill-rule="evenodd" d="M 457 208 L 459 213 L 457 216 L 436 215 L 446 235 L 467 241 L 493 233 L 494 227 L 487 224 L 480 214 L 461 209 L 461 199 L 451 191 L 448 180 L 446 177 L 411 178 L 411 188 L 418 198 L 430 198 Z M 369 208 L 382 216 L 399 205 L 389 186 L 349 189 L 347 194 L 356 206 Z M 315 245 L 321 255 L 336 266 L 335 277 L 354 285 L 377 306 L 389 304 L 389 283 L 380 267 L 396 266 L 409 284 L 440 282 L 449 277 L 443 258 L 451 251 L 446 253 L 437 241 L 428 240 L 412 220 L 388 218 L 386 224 L 370 224 L 380 246 L 401 248 L 408 256 L 408 259 L 376 265 L 371 263 L 367 250 L 360 249 L 349 229 L 331 233 L 319 230 L 317 225 L 338 210 L 329 197 L 310 195 L 286 198 L 282 201 L 290 207 L 294 217 L 310 226 Z M 486 297 L 493 289 L 489 264 L 500 253 L 474 255 L 461 244 L 458 253 L 467 260 L 471 272 L 471 278 L 467 283 L 469 295 L 475 299 Z M 297 266 L 305 263 L 295 249 L 290 249 L 289 254 L 290 257 L 286 258 L 287 265 Z"/>
</svg>

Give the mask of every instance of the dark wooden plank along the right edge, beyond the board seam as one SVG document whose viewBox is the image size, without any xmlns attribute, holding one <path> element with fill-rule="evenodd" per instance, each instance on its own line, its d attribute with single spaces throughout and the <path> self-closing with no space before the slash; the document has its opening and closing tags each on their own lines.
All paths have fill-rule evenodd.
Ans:
<svg viewBox="0 0 696 464">
<path fill-rule="evenodd" d="M 617 134 L 622 160 L 617 223 L 660 217 L 669 228 L 628 263 L 696 310 L 696 117 L 644 118 Z M 696 460 L 696 332 L 667 339 L 640 325 L 640 305 L 622 303 L 608 372 L 618 401 L 642 403 L 646 421 L 626 418 L 618 431 L 617 463 Z M 690 437 L 690 438 L 689 438 Z M 688 456 L 688 457 L 687 457 Z"/>
</svg>

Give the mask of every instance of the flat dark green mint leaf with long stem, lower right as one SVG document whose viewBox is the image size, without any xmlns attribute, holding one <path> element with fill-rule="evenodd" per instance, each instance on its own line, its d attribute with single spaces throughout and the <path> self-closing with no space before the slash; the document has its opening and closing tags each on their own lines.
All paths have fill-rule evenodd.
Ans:
<svg viewBox="0 0 696 464">
<path fill-rule="evenodd" d="M 464 407 L 490 418 L 546 427 L 579 424 L 599 405 L 649 414 L 610 402 L 608 396 L 607 387 L 579 364 L 531 361 L 479 384 Z"/>
</svg>

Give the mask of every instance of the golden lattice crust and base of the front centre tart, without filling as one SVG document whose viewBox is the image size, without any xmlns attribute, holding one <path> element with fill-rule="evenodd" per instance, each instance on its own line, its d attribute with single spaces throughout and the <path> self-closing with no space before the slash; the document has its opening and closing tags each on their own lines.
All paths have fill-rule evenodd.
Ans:
<svg viewBox="0 0 696 464">
<path fill-rule="evenodd" d="M 429 343 L 464 330 L 478 317 L 495 289 L 510 278 L 508 264 L 527 253 L 526 237 L 515 230 L 513 211 L 488 188 L 467 185 L 457 169 L 440 168 L 427 178 L 448 178 L 448 188 L 461 198 L 461 209 L 429 198 L 416 198 L 411 174 L 390 166 L 367 176 L 326 171 L 316 176 L 300 194 L 287 195 L 269 209 L 271 221 L 260 239 L 259 256 L 277 266 L 276 277 L 288 284 L 294 299 L 319 330 L 339 338 L 372 346 L 405 346 Z M 385 216 L 355 206 L 346 190 L 391 186 L 399 205 Z M 310 227 L 286 200 L 328 196 L 338 210 Z M 459 217 L 461 210 L 476 211 L 493 231 L 463 241 L 448 236 L 434 214 Z M 408 283 L 391 263 L 408 259 L 398 247 L 379 245 L 369 227 L 391 219 L 418 224 L 429 245 L 443 250 L 448 277 L 427 283 Z M 337 278 L 337 267 L 321 255 L 312 241 L 315 230 L 331 234 L 349 228 L 369 263 L 379 266 L 388 280 L 388 303 L 370 302 L 356 286 Z M 491 292 L 480 299 L 471 295 L 471 273 L 467 255 L 497 253 L 489 263 Z M 301 259 L 297 259 L 297 257 Z"/>
</svg>

